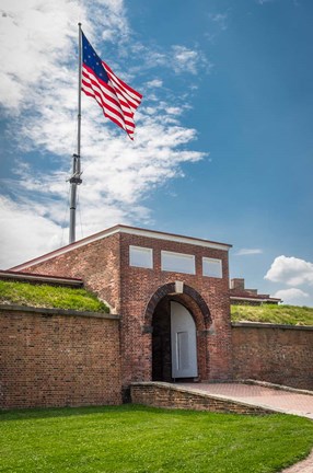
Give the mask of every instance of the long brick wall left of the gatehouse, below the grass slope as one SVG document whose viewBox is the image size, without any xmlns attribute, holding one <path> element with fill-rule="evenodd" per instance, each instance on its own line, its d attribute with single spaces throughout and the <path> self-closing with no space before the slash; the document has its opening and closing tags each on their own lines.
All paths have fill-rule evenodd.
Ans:
<svg viewBox="0 0 313 473">
<path fill-rule="evenodd" d="M 118 318 L 0 308 L 0 408 L 120 404 Z"/>
</svg>

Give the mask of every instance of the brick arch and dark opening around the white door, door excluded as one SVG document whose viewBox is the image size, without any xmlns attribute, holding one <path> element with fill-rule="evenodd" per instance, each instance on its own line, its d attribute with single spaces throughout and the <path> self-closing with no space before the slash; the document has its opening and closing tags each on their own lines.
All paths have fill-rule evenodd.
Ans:
<svg viewBox="0 0 313 473">
<path fill-rule="evenodd" d="M 173 381 L 171 353 L 171 303 L 183 305 L 195 322 L 198 379 L 209 378 L 208 336 L 211 316 L 204 298 L 192 287 L 175 282 L 162 286 L 150 299 L 146 310 L 146 326 L 152 332 L 151 379 Z"/>
</svg>

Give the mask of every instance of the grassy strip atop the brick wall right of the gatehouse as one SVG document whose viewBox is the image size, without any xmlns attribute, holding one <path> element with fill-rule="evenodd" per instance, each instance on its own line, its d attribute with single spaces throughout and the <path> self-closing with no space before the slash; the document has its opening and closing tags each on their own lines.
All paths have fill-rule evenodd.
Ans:
<svg viewBox="0 0 313 473">
<path fill-rule="evenodd" d="M 313 308 L 297 305 L 231 305 L 232 322 L 313 325 Z"/>
</svg>

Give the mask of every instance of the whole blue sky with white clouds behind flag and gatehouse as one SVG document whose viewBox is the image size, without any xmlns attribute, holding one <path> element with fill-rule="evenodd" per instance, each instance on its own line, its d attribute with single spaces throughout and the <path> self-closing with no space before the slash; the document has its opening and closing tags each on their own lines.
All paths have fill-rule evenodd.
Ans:
<svg viewBox="0 0 313 473">
<path fill-rule="evenodd" d="M 310 0 L 0 0 L 0 267 L 68 242 L 77 23 L 143 94 L 131 142 L 82 97 L 77 238 L 233 244 L 231 277 L 313 305 Z"/>
</svg>

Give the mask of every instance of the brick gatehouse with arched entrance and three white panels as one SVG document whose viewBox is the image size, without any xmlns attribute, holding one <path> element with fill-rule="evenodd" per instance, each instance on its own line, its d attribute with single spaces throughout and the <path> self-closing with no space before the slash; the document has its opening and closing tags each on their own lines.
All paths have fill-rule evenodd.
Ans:
<svg viewBox="0 0 313 473">
<path fill-rule="evenodd" d="M 120 316 L 127 396 L 136 381 L 232 378 L 229 249 L 116 226 L 12 270 L 81 278 Z"/>
</svg>

